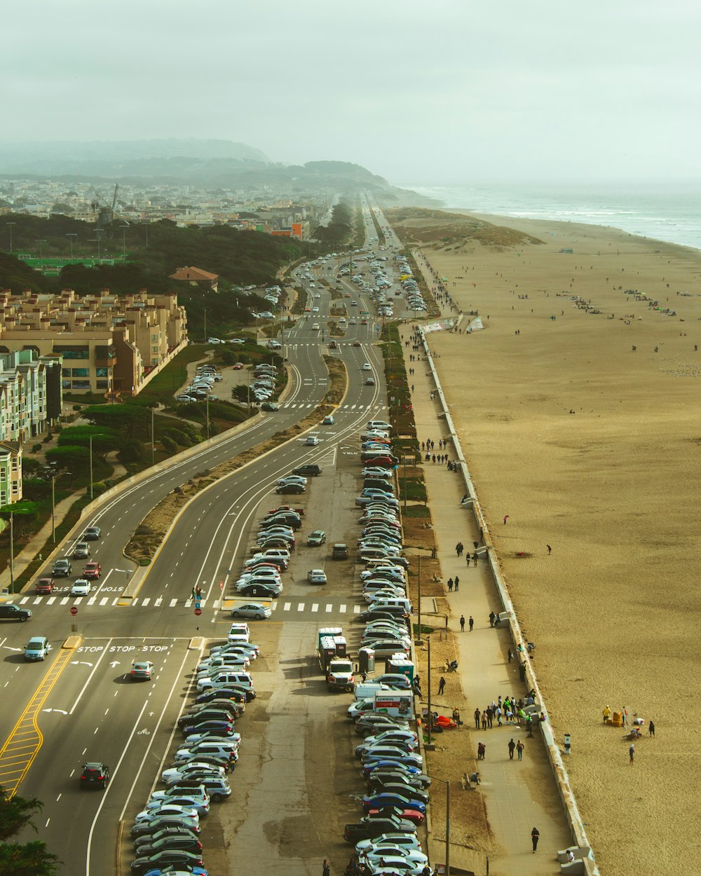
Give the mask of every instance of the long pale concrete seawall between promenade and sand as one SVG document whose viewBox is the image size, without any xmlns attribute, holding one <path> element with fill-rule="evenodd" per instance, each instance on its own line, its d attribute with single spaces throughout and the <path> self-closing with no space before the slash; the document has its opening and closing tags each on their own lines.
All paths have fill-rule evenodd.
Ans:
<svg viewBox="0 0 701 876">
<path fill-rule="evenodd" d="M 474 515 L 475 521 L 480 529 L 480 532 L 482 533 L 482 540 L 486 547 L 486 561 L 489 563 L 490 569 L 492 571 L 492 578 L 497 586 L 497 589 L 499 590 L 499 598 L 501 599 L 501 604 L 505 611 L 509 612 L 509 629 L 512 634 L 514 653 L 517 656 L 524 657 L 526 661 L 526 677 L 528 685 L 531 688 L 535 689 L 537 702 L 541 704 L 541 709 L 546 717 L 545 722 L 540 723 L 542 738 L 545 743 L 546 751 L 548 752 L 550 768 L 552 769 L 553 775 L 555 777 L 558 794 L 560 795 L 560 800 L 563 803 L 565 816 L 568 823 L 570 824 L 570 830 L 572 831 L 574 844 L 580 847 L 591 847 L 591 843 L 586 835 L 586 830 L 584 830 L 582 816 L 580 816 L 579 809 L 577 808 L 575 795 L 570 786 L 570 776 L 568 775 L 567 770 L 563 764 L 560 749 L 556 744 L 555 738 L 553 737 L 552 729 L 549 723 L 548 710 L 545 706 L 545 703 L 543 702 L 542 694 L 538 686 L 538 680 L 535 675 L 535 669 L 533 668 L 533 664 L 528 658 L 528 643 L 527 640 L 524 638 L 522 632 L 520 631 L 520 625 L 518 619 L 516 618 L 516 612 L 513 608 L 511 597 L 509 596 L 508 586 L 506 584 L 506 581 L 504 580 L 504 577 L 501 574 L 501 569 L 499 569 L 499 558 L 496 554 L 494 546 L 492 545 L 492 540 L 489 535 L 489 529 L 486 525 L 485 517 L 482 513 L 482 508 L 479 504 L 479 499 L 475 491 L 474 484 L 472 484 L 470 470 L 468 469 L 467 463 L 465 461 L 463 449 L 460 445 L 460 440 L 457 436 L 457 431 L 453 424 L 453 420 L 450 417 L 450 410 L 448 403 L 445 399 L 445 395 L 443 394 L 443 387 L 441 385 L 440 379 L 438 378 L 438 374 L 435 371 L 434 360 L 431 356 L 430 350 L 428 349 L 426 337 L 423 335 L 422 331 L 421 343 L 426 353 L 426 361 L 428 362 L 428 365 L 430 367 L 431 375 L 435 382 L 435 392 L 438 393 L 438 399 L 440 400 L 443 415 L 450 429 L 450 438 L 452 439 L 453 445 L 456 450 L 457 461 L 463 474 L 465 488 L 468 496 L 471 499 L 471 510 Z M 522 649 L 522 651 L 520 651 L 520 648 Z M 593 874 L 593 876 L 599 876 L 598 867 L 595 863 L 593 863 L 593 858 L 591 858 L 591 862 L 591 873 Z"/>
</svg>

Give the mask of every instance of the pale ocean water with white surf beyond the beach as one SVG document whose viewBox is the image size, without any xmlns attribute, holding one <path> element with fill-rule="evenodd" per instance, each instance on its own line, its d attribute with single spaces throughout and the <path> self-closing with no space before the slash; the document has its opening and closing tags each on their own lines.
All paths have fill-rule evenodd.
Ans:
<svg viewBox="0 0 701 876">
<path fill-rule="evenodd" d="M 445 209 L 514 218 L 610 225 L 701 250 L 701 183 L 657 186 L 441 186 L 397 183 L 441 201 Z"/>
</svg>

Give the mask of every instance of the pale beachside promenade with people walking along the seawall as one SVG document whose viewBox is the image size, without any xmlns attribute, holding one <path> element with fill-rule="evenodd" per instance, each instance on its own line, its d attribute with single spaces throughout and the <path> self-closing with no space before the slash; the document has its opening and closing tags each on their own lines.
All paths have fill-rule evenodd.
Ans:
<svg viewBox="0 0 701 876">
<path fill-rule="evenodd" d="M 412 331 L 410 325 L 402 327 L 405 340 Z M 438 418 L 437 401 L 430 400 L 435 389 L 433 378 L 427 364 L 409 362 L 413 353 L 412 344 L 404 347 L 407 369 L 414 368 L 409 384 L 414 384 L 412 401 L 419 442 L 428 439 L 435 442 L 432 455 L 438 451 L 438 439 L 449 437 L 445 420 Z M 424 359 L 422 350 L 418 354 Z M 454 451 L 447 452 L 454 459 Z M 443 451 L 439 451 L 443 452 Z M 507 661 L 508 647 L 511 644 L 508 629 L 493 629 L 489 624 L 490 611 L 501 611 L 499 595 L 483 560 L 475 568 L 468 567 L 464 556 L 457 557 L 458 541 L 464 543 L 465 552 L 474 551 L 473 541 L 479 533 L 474 518 L 467 508 L 460 505 L 464 495 L 463 479 L 456 472 L 447 470 L 445 465 L 423 463 L 428 491 L 428 505 L 433 517 L 438 556 L 441 560 L 443 581 L 449 577 L 460 578 L 457 593 L 446 597 L 450 605 L 450 629 L 456 632 L 458 647 L 458 675 L 469 708 L 464 713 L 464 726 L 471 734 L 471 744 L 477 756 L 478 742 L 486 746 L 485 760 L 478 765 L 482 784 L 479 793 L 484 796 L 486 816 L 490 823 L 494 845 L 499 851 L 490 856 L 490 872 L 504 876 L 547 876 L 559 873 L 556 862 L 557 849 L 567 848 L 572 837 L 564 816 L 556 783 L 549 767 L 539 731 L 528 739 L 525 729 L 504 724 L 497 727 L 496 719 L 492 729 L 477 730 L 472 713 L 476 708 L 484 711 L 487 705 L 499 696 L 524 696 L 524 685 L 519 681 L 517 664 Z M 459 617 L 464 614 L 467 620 L 474 618 L 473 632 L 460 632 Z M 507 743 L 510 738 L 518 738 L 526 746 L 523 760 L 515 755 L 510 760 Z M 456 765 L 453 779 L 460 788 L 459 779 L 466 765 Z M 462 793 L 457 791 L 456 793 Z M 534 855 L 531 848 L 530 832 L 536 826 L 540 831 L 540 846 Z M 442 859 L 442 851 L 436 848 L 437 859 Z"/>
</svg>

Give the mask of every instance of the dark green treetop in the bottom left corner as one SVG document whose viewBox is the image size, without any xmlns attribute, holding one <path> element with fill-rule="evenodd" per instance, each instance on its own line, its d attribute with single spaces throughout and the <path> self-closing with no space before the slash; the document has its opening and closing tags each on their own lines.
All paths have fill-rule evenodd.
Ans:
<svg viewBox="0 0 701 876">
<path fill-rule="evenodd" d="M 12 839 L 25 827 L 32 827 L 32 816 L 42 808 L 39 800 L 8 795 L 0 788 L 0 876 L 54 876 L 59 858 L 47 850 L 46 843 L 15 843 Z"/>
</svg>

